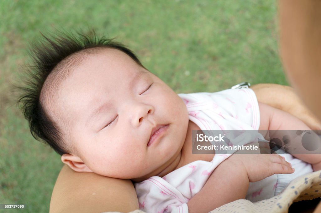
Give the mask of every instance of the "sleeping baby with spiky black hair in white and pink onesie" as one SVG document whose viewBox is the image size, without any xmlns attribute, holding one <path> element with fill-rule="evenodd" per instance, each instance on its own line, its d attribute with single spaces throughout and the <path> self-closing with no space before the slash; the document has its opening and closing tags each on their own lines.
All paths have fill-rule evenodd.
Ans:
<svg viewBox="0 0 321 213">
<path fill-rule="evenodd" d="M 145 212 L 258 201 L 321 168 L 319 154 L 192 154 L 192 130 L 257 130 L 266 138 L 268 130 L 309 128 L 258 103 L 251 89 L 176 94 L 112 40 L 45 38 L 34 47 L 36 73 L 20 99 L 33 136 L 75 171 L 131 179 Z"/>
</svg>

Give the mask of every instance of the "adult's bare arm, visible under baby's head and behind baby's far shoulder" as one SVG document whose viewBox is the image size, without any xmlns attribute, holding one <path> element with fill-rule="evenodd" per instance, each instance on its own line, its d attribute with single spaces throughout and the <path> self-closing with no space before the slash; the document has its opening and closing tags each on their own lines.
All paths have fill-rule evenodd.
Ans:
<svg viewBox="0 0 321 213">
<path fill-rule="evenodd" d="M 300 103 L 294 90 L 276 84 L 258 84 L 251 87 L 258 101 L 288 111 L 307 121 L 311 129 L 321 129 L 311 113 Z M 311 119 L 308 119 L 311 118 Z M 75 172 L 65 165 L 55 184 L 50 213 L 57 212 L 130 212 L 139 209 L 134 185 L 94 173 Z"/>
</svg>

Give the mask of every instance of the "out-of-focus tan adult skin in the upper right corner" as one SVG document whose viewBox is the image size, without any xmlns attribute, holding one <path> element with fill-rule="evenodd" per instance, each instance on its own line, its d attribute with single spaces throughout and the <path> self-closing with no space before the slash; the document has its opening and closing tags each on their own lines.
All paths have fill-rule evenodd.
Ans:
<svg viewBox="0 0 321 213">
<path fill-rule="evenodd" d="M 300 98 L 321 119 L 321 1 L 280 0 L 281 59 Z M 321 203 L 314 212 L 321 212 Z"/>
</svg>

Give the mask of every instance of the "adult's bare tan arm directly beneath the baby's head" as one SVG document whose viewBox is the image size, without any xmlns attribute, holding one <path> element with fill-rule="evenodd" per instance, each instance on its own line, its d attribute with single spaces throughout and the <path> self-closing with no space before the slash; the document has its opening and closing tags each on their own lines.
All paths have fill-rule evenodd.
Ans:
<svg viewBox="0 0 321 213">
<path fill-rule="evenodd" d="M 138 209 L 138 200 L 130 180 L 75 172 L 65 165 L 57 178 L 49 212 L 129 212 L 135 209 Z"/>
</svg>

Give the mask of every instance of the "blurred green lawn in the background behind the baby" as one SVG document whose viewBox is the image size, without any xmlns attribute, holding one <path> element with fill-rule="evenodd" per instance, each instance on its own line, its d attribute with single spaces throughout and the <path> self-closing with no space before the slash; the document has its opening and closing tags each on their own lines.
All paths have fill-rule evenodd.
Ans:
<svg viewBox="0 0 321 213">
<path fill-rule="evenodd" d="M 117 37 L 178 93 L 218 91 L 243 81 L 287 84 L 274 0 L 92 2 L 0 1 L 0 203 L 48 212 L 62 167 L 58 154 L 32 138 L 13 105 L 11 83 L 21 78 L 25 48 L 39 32 L 93 27 Z"/>
</svg>

